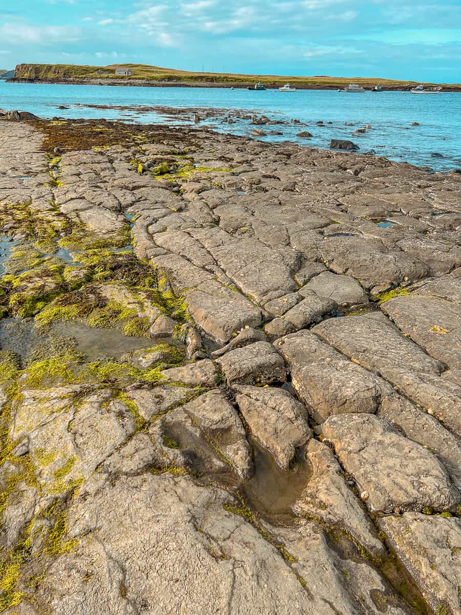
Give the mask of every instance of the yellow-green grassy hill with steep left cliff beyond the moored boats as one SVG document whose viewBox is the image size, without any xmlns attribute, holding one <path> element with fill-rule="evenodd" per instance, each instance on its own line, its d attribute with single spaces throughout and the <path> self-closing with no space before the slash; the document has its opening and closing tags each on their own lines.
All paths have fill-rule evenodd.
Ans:
<svg viewBox="0 0 461 615">
<path fill-rule="evenodd" d="M 116 76 L 117 67 L 123 66 L 133 71 L 133 76 Z M 384 87 L 409 87 L 416 81 L 397 81 L 395 79 L 378 79 L 376 77 L 329 77 L 316 75 L 312 77 L 256 75 L 232 73 L 192 73 L 180 71 L 175 68 L 162 68 L 147 64 L 114 64 L 109 66 L 77 66 L 71 64 L 20 64 L 16 67 L 15 76 L 21 79 L 117 79 L 120 81 L 167 81 L 167 82 L 197 82 L 216 84 L 251 84 L 261 81 L 266 85 L 285 84 L 290 81 L 293 85 L 310 85 L 318 87 L 344 87 L 351 81 L 363 86 L 373 86 L 377 83 Z M 446 87 L 461 88 L 460 84 L 429 84 L 445 85 Z"/>
</svg>

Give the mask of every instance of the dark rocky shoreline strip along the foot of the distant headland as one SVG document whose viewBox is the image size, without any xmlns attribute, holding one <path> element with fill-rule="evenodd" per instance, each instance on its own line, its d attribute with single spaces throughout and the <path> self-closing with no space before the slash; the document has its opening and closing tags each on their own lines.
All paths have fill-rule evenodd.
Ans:
<svg viewBox="0 0 461 615">
<path fill-rule="evenodd" d="M 12 79 L 4 79 L 6 83 L 29 83 L 29 84 L 55 84 L 55 85 L 117 85 L 122 87 L 200 87 L 200 88 L 221 88 L 221 89 L 238 89 L 246 90 L 250 87 L 248 84 L 242 84 L 241 82 L 206 82 L 206 81 L 152 81 L 151 79 L 26 79 L 23 77 L 14 77 Z M 364 84 L 365 89 L 371 90 L 375 83 Z M 277 90 L 280 87 L 280 83 L 269 84 L 265 83 L 264 87 L 267 90 Z M 327 85 L 327 84 L 300 84 L 296 83 L 297 90 L 342 90 L 342 85 Z M 410 86 L 384 86 L 384 92 L 409 92 Z M 460 93 L 461 85 L 459 87 L 444 87 L 441 93 Z"/>
</svg>

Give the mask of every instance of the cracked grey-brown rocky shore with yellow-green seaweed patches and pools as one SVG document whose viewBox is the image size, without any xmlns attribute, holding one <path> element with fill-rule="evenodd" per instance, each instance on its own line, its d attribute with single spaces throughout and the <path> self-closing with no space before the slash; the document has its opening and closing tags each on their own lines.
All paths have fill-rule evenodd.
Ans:
<svg viewBox="0 0 461 615">
<path fill-rule="evenodd" d="M 27 117 L 0 611 L 459 614 L 461 175 Z"/>
</svg>

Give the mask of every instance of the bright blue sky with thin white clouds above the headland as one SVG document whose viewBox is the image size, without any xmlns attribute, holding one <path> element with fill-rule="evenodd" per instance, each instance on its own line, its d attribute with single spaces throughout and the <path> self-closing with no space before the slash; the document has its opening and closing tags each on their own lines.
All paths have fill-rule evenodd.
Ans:
<svg viewBox="0 0 461 615">
<path fill-rule="evenodd" d="M 23 62 L 461 82 L 461 0 L 0 0 Z"/>
</svg>

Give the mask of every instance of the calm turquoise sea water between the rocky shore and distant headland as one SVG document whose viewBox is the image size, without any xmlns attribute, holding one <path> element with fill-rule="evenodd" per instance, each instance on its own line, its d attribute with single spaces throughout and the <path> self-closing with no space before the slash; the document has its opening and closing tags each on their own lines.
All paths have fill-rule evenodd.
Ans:
<svg viewBox="0 0 461 615">
<path fill-rule="evenodd" d="M 69 109 L 57 109 L 58 105 Z M 192 115 L 175 118 L 142 109 L 92 109 L 78 105 L 141 105 L 171 108 L 214 108 L 256 111 L 271 119 L 299 119 L 306 128 L 296 125 L 259 127 L 282 130 L 283 136 L 262 140 L 293 140 L 302 145 L 328 148 L 331 138 L 352 139 L 360 151 L 374 149 L 376 154 L 396 161 L 406 161 L 435 170 L 461 167 L 461 93 L 417 96 L 409 92 L 339 93 L 328 90 L 278 90 L 249 92 L 246 89 L 117 87 L 106 85 L 10 84 L 0 81 L 0 108 L 30 111 L 41 117 L 121 119 L 146 124 L 168 122 L 190 124 Z M 322 120 L 324 127 L 315 122 Z M 327 124 L 327 122 L 333 122 Z M 353 122 L 353 127 L 345 126 Z M 411 126 L 419 122 L 420 126 Z M 248 121 L 227 125 L 219 118 L 208 119 L 207 126 L 221 132 L 250 135 L 254 126 Z M 364 135 L 353 130 L 364 124 L 372 129 Z M 313 138 L 297 138 L 299 130 L 309 130 Z M 433 157 L 432 153 L 443 157 Z"/>
</svg>

